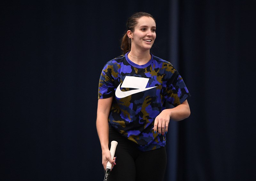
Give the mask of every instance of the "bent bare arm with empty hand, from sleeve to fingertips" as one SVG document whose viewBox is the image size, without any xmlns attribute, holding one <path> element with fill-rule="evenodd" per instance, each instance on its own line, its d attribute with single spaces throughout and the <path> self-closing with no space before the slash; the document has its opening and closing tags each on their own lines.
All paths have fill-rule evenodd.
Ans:
<svg viewBox="0 0 256 181">
<path fill-rule="evenodd" d="M 158 134 L 164 135 L 164 132 L 168 131 L 170 119 L 174 121 L 181 121 L 188 118 L 189 115 L 190 108 L 187 100 L 174 108 L 164 109 L 158 116 L 156 116 L 154 131 L 157 132 L 158 129 Z"/>
</svg>

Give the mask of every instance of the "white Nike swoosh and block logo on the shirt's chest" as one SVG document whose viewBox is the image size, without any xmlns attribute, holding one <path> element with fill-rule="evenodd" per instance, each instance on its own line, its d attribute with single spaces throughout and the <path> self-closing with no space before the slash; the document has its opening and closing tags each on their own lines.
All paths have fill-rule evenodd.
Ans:
<svg viewBox="0 0 256 181">
<path fill-rule="evenodd" d="M 149 78 L 126 76 L 124 78 L 124 82 L 122 83 L 122 86 L 121 86 L 121 83 L 120 83 L 118 85 L 118 87 L 116 88 L 116 97 L 117 98 L 124 98 L 124 97 L 130 96 L 132 94 L 136 94 L 136 93 L 143 92 L 145 90 L 149 90 L 149 89 L 154 88 L 154 87 L 146 88 L 148 81 L 149 81 Z M 136 88 L 136 89 L 135 90 L 122 91 L 120 89 L 120 86 L 122 88 L 126 87 L 126 88 Z M 155 86 L 155 87 L 157 87 L 157 86 Z"/>
</svg>

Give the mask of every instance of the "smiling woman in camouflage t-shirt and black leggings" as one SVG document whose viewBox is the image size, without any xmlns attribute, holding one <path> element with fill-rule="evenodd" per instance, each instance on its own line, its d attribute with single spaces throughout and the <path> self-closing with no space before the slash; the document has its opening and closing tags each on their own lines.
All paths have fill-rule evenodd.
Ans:
<svg viewBox="0 0 256 181">
<path fill-rule="evenodd" d="M 135 13 L 126 26 L 124 55 L 108 61 L 100 76 L 96 126 L 102 164 L 104 169 L 107 161 L 117 164 L 111 181 L 163 180 L 165 134 L 170 119 L 190 115 L 190 94 L 172 64 L 150 53 L 156 39 L 152 15 Z M 175 107 L 165 109 L 166 102 Z M 112 140 L 118 142 L 114 160 L 109 151 Z"/>
</svg>

